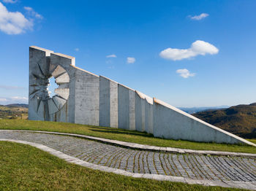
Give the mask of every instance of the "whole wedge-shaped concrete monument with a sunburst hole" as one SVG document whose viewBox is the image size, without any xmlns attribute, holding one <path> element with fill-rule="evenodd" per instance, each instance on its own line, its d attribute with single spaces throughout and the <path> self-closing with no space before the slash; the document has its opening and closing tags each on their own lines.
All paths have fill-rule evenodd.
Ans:
<svg viewBox="0 0 256 191">
<path fill-rule="evenodd" d="M 50 98 L 48 85 L 56 88 Z M 73 122 L 152 133 L 165 139 L 250 144 L 107 77 L 75 66 L 75 58 L 29 47 L 29 120 Z"/>
</svg>

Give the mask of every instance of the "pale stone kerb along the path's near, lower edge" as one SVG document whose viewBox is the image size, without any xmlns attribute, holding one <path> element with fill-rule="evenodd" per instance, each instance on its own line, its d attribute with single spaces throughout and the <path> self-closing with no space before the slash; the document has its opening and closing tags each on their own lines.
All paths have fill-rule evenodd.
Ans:
<svg viewBox="0 0 256 191">
<path fill-rule="evenodd" d="M 81 165 L 86 168 L 91 168 L 94 170 L 105 171 L 108 173 L 119 174 L 124 176 L 130 176 L 133 178 L 144 178 L 144 179 L 155 179 L 158 181 L 170 181 L 170 182 L 182 182 L 187 184 L 200 184 L 203 186 L 219 186 L 219 187 L 236 187 L 240 189 L 248 189 L 248 190 L 255 190 L 256 181 L 254 182 L 220 182 L 220 181 L 210 181 L 210 180 L 198 180 L 198 179 L 187 179 L 180 176 L 165 176 L 159 174 L 138 174 L 138 173 L 131 173 L 128 171 L 120 170 L 117 168 L 110 168 L 107 166 L 102 165 L 95 165 L 93 163 L 88 163 L 86 161 L 80 160 L 76 157 L 71 157 L 69 155 L 64 154 L 63 152 L 57 151 L 50 147 L 47 147 L 43 144 L 35 144 L 29 141 L 20 141 L 20 140 L 13 140 L 13 139 L 0 139 L 0 141 L 10 141 L 20 144 L 28 144 L 32 147 L 36 147 L 37 149 L 41 149 L 42 151 L 48 152 L 51 155 L 59 157 L 68 163 L 74 163 L 76 165 Z"/>
</svg>

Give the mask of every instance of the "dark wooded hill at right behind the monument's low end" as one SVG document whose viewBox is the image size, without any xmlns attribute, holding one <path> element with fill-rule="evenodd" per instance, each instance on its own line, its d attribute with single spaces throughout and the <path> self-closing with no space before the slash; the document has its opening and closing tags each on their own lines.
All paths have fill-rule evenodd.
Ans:
<svg viewBox="0 0 256 191">
<path fill-rule="evenodd" d="M 256 103 L 197 112 L 192 115 L 237 136 L 256 138 Z"/>
</svg>

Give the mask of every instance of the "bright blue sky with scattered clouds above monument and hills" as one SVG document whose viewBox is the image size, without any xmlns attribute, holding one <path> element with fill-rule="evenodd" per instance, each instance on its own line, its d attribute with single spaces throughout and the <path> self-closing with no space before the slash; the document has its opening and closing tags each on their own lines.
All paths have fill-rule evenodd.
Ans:
<svg viewBox="0 0 256 191">
<path fill-rule="evenodd" d="M 0 104 L 27 102 L 31 45 L 173 106 L 256 102 L 255 10 L 254 0 L 0 0 Z"/>
</svg>

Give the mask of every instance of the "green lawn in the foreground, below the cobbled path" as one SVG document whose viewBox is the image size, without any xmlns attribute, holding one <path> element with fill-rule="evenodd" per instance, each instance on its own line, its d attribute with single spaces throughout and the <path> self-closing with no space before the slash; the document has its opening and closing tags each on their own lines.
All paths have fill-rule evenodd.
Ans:
<svg viewBox="0 0 256 191">
<path fill-rule="evenodd" d="M 0 141 L 0 153 L 0 190 L 236 190 L 105 173 L 6 141 Z"/>
</svg>

